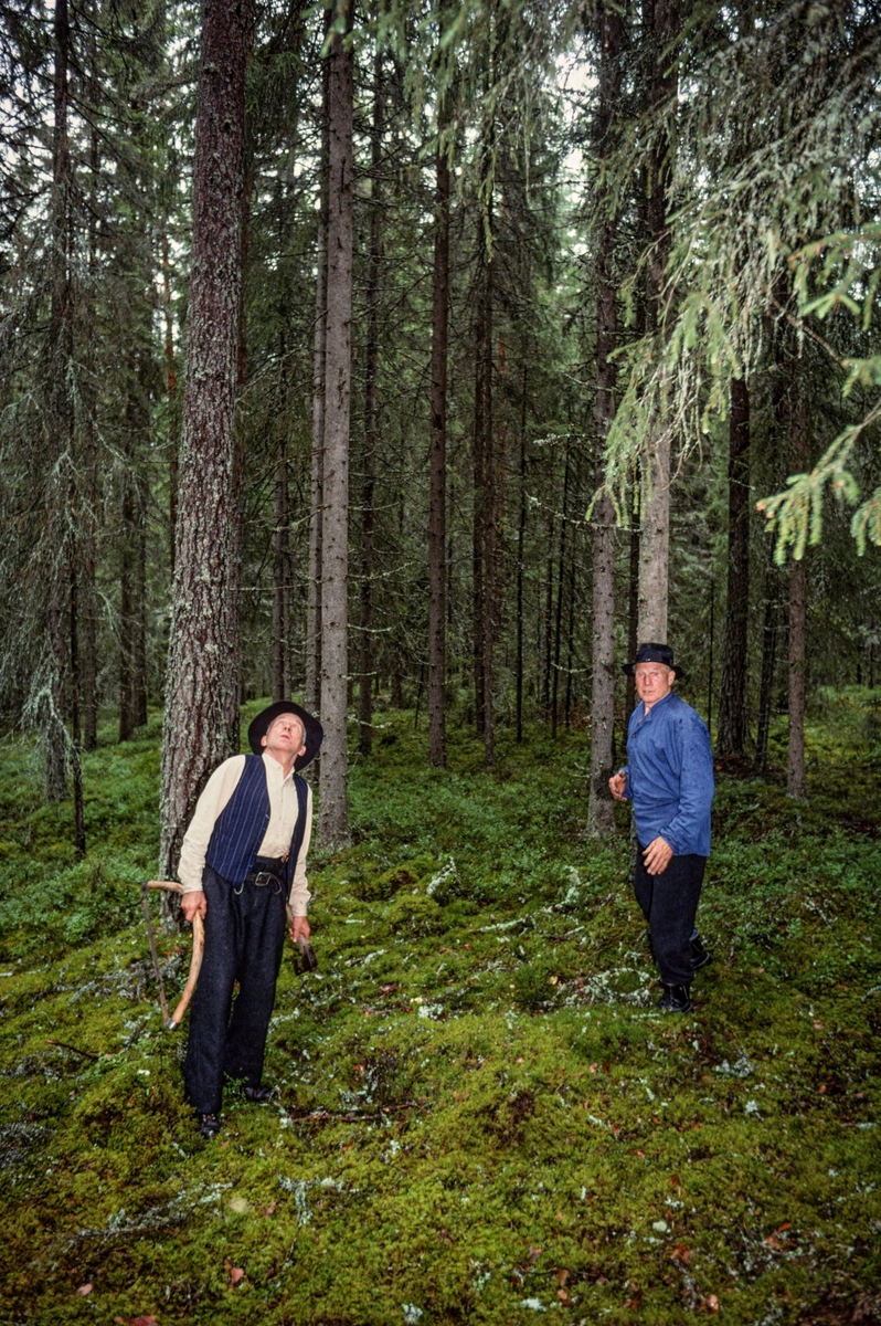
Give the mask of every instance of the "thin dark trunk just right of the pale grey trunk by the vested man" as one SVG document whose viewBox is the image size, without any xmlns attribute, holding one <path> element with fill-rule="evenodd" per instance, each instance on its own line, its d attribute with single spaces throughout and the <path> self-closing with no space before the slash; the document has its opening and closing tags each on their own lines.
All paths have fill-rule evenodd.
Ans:
<svg viewBox="0 0 881 1326">
<path fill-rule="evenodd" d="M 374 122 L 371 126 L 370 252 L 367 255 L 367 374 L 364 382 L 364 457 L 360 513 L 360 684 L 358 749 L 374 748 L 374 487 L 379 436 L 379 265 L 382 256 L 383 56 L 374 56 Z"/>
</svg>

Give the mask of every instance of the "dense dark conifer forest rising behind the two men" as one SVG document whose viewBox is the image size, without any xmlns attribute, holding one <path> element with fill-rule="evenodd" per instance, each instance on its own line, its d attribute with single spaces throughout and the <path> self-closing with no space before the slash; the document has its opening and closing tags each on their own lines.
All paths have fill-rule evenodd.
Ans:
<svg viewBox="0 0 881 1326">
<path fill-rule="evenodd" d="M 730 768 L 788 712 L 804 796 L 807 700 L 878 674 L 878 37 L 837 0 L 4 5 L 1 705 L 46 797 L 167 704 L 172 870 L 240 703 L 295 693 L 326 845 L 386 704 L 441 766 L 449 724 L 490 766 L 590 728 L 601 834 L 662 638 Z"/>
</svg>

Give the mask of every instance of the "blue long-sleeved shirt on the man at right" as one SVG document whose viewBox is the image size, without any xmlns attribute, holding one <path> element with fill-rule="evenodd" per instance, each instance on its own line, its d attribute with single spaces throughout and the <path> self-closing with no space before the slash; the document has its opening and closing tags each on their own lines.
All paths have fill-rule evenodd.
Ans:
<svg viewBox="0 0 881 1326">
<path fill-rule="evenodd" d="M 700 715 L 673 691 L 648 713 L 637 704 L 627 756 L 625 796 L 643 846 L 661 837 L 676 857 L 709 857 L 713 751 Z"/>
</svg>

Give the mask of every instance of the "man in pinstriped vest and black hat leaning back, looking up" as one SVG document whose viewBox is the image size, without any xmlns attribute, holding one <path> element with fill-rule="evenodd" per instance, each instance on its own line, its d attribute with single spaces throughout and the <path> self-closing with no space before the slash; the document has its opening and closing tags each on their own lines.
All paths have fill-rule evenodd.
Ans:
<svg viewBox="0 0 881 1326">
<path fill-rule="evenodd" d="M 315 758 L 322 737 L 318 720 L 298 704 L 270 704 L 248 729 L 253 754 L 215 769 L 183 841 L 180 906 L 188 922 L 196 914 L 205 922 L 184 1061 L 187 1101 L 204 1138 L 220 1131 L 224 1078 L 244 1082 L 249 1101 L 272 1095 L 261 1075 L 286 904 L 291 940 L 309 939 L 313 801 L 297 770 Z"/>
</svg>

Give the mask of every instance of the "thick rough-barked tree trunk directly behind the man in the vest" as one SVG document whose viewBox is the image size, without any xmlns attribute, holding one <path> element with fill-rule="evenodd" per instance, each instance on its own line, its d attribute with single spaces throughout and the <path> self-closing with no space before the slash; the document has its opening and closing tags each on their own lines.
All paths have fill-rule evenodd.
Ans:
<svg viewBox="0 0 881 1326">
<path fill-rule="evenodd" d="M 250 0 L 203 3 L 187 383 L 162 748 L 159 869 L 166 878 L 175 869 L 205 778 L 237 747 L 231 741 L 238 723 L 234 412 L 252 23 Z"/>
</svg>

